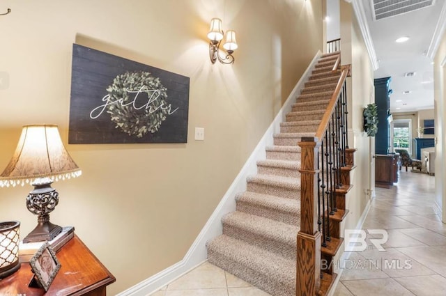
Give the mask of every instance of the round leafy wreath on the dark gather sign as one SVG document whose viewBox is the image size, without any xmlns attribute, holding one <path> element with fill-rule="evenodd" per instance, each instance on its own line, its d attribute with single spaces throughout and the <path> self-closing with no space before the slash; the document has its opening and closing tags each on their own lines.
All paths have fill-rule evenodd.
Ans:
<svg viewBox="0 0 446 296">
<path fill-rule="evenodd" d="M 168 110 L 163 107 L 167 105 L 167 88 L 161 84 L 160 78 L 149 72 L 118 75 L 107 87 L 107 92 L 113 102 L 118 102 L 108 104 L 107 113 L 116 124 L 115 128 L 129 136 L 141 138 L 148 132 L 157 132 L 166 120 Z"/>
</svg>

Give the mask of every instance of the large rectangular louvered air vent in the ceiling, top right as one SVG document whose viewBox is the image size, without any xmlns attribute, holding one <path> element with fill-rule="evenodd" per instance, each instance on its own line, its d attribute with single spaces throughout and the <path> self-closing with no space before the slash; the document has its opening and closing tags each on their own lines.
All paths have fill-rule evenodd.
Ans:
<svg viewBox="0 0 446 296">
<path fill-rule="evenodd" d="M 370 0 L 374 20 L 410 13 L 432 6 L 436 0 Z"/>
</svg>

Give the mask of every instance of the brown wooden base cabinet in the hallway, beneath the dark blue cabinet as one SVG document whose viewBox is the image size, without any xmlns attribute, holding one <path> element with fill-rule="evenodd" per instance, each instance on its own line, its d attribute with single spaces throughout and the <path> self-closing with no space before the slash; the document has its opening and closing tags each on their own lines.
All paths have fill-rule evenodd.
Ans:
<svg viewBox="0 0 446 296">
<path fill-rule="evenodd" d="M 398 182 L 399 155 L 376 155 L 375 186 L 390 188 Z"/>
</svg>

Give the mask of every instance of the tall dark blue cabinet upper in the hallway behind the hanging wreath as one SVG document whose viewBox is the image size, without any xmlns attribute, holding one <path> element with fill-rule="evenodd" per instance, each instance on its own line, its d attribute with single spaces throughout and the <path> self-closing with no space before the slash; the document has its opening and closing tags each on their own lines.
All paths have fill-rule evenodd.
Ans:
<svg viewBox="0 0 446 296">
<path fill-rule="evenodd" d="M 378 132 L 375 136 L 375 153 L 390 153 L 390 127 L 387 118 L 390 116 L 390 77 L 375 79 L 375 104 L 378 107 Z"/>
</svg>

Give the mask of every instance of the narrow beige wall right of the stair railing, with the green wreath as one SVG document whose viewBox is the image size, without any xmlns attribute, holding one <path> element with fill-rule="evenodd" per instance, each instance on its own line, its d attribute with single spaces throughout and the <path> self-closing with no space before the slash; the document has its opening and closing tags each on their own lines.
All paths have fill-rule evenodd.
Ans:
<svg viewBox="0 0 446 296">
<path fill-rule="evenodd" d="M 374 189 L 374 176 L 371 174 L 374 153 L 374 139 L 367 137 L 362 127 L 362 111 L 367 104 L 374 102 L 373 68 L 367 54 L 359 24 L 350 3 L 341 3 L 341 63 L 352 64 L 352 77 L 348 78 L 349 97 L 349 145 L 356 148 L 355 164 L 351 183 L 353 188 L 348 194 L 346 208 L 350 210 L 344 228 L 354 229 L 370 198 L 370 190 Z M 368 194 L 366 194 L 366 191 Z"/>
</svg>

